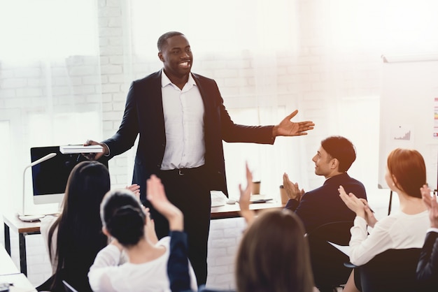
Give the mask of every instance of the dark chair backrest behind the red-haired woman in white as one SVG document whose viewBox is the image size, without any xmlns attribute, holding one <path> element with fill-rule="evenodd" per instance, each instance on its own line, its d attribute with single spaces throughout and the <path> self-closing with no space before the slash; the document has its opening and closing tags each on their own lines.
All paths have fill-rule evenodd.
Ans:
<svg viewBox="0 0 438 292">
<path fill-rule="evenodd" d="M 417 291 L 416 268 L 421 249 L 388 249 L 355 268 L 356 286 L 362 292 Z M 359 278 L 356 274 L 359 272 Z M 358 283 L 360 282 L 360 283 Z"/>
</svg>

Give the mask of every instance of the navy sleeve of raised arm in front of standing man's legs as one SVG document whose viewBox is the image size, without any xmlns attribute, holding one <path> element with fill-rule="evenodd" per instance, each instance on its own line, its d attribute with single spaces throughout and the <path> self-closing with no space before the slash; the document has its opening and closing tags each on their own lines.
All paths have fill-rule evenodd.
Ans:
<svg viewBox="0 0 438 292">
<path fill-rule="evenodd" d="M 181 231 L 171 231 L 169 235 L 170 255 L 167 262 L 167 275 L 169 275 L 171 291 L 192 292 L 187 258 L 187 234 Z"/>
</svg>

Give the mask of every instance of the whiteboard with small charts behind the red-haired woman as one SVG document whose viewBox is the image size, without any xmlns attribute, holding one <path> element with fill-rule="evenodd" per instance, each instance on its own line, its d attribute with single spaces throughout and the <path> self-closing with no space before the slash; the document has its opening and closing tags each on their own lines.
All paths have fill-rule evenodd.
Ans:
<svg viewBox="0 0 438 292">
<path fill-rule="evenodd" d="M 386 159 L 401 147 L 423 155 L 428 184 L 437 189 L 438 58 L 384 62 L 382 67 L 378 187 L 388 188 Z"/>
</svg>

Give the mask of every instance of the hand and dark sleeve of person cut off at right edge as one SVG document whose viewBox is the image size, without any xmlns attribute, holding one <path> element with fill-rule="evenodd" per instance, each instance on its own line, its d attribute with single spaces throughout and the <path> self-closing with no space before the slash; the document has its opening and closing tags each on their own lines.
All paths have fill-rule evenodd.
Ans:
<svg viewBox="0 0 438 292">
<path fill-rule="evenodd" d="M 421 188 L 421 195 L 429 210 L 430 228 L 421 249 L 417 279 L 424 289 L 438 291 L 438 203 L 437 197 L 430 194 L 429 187 L 424 185 Z"/>
</svg>

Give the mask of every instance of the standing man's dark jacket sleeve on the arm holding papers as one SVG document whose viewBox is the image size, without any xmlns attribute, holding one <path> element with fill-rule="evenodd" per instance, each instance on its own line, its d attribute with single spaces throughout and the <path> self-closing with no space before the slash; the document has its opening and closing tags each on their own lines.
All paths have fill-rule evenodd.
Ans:
<svg viewBox="0 0 438 292">
<path fill-rule="evenodd" d="M 134 146 L 137 134 L 139 133 L 139 119 L 137 117 L 138 112 L 135 101 L 136 91 L 139 90 L 136 88 L 139 86 L 135 85 L 136 83 L 132 82 L 131 87 L 129 87 L 125 112 L 117 133 L 115 133 L 113 137 L 102 141 L 108 145 L 108 148 L 110 149 L 108 159 L 131 149 L 131 147 Z"/>
</svg>

